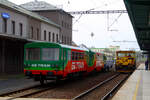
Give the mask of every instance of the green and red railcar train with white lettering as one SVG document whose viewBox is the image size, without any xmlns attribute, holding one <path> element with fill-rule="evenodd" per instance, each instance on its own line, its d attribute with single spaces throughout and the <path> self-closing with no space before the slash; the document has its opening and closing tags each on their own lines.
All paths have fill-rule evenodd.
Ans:
<svg viewBox="0 0 150 100">
<path fill-rule="evenodd" d="M 50 42 L 33 42 L 24 46 L 24 73 L 40 81 L 86 76 L 108 70 L 106 56 L 87 48 Z M 104 66 L 105 65 L 105 66 Z"/>
</svg>

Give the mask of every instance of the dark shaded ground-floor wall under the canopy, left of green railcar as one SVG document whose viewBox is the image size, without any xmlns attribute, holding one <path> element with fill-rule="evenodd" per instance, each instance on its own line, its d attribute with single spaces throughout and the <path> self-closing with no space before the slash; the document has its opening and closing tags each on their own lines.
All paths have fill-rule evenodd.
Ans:
<svg viewBox="0 0 150 100">
<path fill-rule="evenodd" d="M 0 74 L 23 72 L 25 41 L 0 37 Z"/>
</svg>

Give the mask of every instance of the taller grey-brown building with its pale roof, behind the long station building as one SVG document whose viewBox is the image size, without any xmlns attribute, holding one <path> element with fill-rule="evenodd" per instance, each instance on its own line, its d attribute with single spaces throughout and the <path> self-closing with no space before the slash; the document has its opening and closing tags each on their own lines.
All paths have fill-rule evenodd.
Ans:
<svg viewBox="0 0 150 100">
<path fill-rule="evenodd" d="M 44 16 L 60 25 L 59 42 L 71 45 L 72 43 L 72 16 L 62 9 L 59 9 L 44 1 L 33 1 L 20 5 L 32 12 Z"/>
</svg>

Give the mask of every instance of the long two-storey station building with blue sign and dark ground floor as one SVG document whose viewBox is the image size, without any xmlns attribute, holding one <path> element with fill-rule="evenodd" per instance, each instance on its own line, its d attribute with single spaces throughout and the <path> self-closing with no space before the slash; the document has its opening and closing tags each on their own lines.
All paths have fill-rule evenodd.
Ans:
<svg viewBox="0 0 150 100">
<path fill-rule="evenodd" d="M 0 0 L 0 73 L 23 72 L 24 44 L 59 42 L 60 25 L 8 0 Z"/>
</svg>

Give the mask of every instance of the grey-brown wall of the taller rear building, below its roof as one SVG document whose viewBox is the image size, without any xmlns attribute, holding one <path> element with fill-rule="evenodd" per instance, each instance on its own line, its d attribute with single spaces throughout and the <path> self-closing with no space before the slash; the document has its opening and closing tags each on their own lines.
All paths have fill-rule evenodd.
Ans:
<svg viewBox="0 0 150 100">
<path fill-rule="evenodd" d="M 36 11 L 41 16 L 47 17 L 61 26 L 59 39 L 61 43 L 71 45 L 72 43 L 72 17 L 65 12 L 58 11 Z"/>
</svg>

